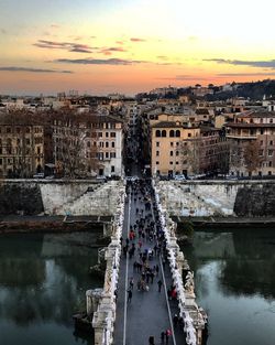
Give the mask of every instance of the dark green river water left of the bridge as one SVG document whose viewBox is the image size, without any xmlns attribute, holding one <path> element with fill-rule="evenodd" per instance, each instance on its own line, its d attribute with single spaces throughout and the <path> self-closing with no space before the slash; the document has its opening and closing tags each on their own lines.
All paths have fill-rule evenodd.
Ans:
<svg viewBox="0 0 275 345">
<path fill-rule="evenodd" d="M 76 334 L 72 315 L 85 311 L 85 292 L 102 287 L 96 234 L 0 236 L 0 344 L 94 344 Z"/>
</svg>

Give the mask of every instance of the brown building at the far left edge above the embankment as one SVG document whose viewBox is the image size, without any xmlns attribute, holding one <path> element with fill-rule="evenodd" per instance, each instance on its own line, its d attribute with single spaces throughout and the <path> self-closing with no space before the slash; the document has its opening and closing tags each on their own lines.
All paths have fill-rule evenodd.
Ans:
<svg viewBox="0 0 275 345">
<path fill-rule="evenodd" d="M 44 171 L 44 130 L 29 112 L 0 117 L 1 177 L 32 177 Z"/>
</svg>

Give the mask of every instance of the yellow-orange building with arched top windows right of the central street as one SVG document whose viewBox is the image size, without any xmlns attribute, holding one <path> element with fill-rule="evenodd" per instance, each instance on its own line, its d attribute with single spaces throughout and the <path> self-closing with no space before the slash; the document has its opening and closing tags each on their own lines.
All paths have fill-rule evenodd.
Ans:
<svg viewBox="0 0 275 345">
<path fill-rule="evenodd" d="M 186 126 L 183 116 L 162 115 L 150 122 L 153 175 L 190 175 L 228 169 L 223 131 Z"/>
</svg>

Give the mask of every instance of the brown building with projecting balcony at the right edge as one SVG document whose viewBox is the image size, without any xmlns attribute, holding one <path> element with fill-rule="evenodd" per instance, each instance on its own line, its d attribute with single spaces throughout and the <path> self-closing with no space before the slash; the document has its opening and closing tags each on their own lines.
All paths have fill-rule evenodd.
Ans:
<svg viewBox="0 0 275 345">
<path fill-rule="evenodd" d="M 232 175 L 275 174 L 275 112 L 242 112 L 227 130 Z"/>
</svg>

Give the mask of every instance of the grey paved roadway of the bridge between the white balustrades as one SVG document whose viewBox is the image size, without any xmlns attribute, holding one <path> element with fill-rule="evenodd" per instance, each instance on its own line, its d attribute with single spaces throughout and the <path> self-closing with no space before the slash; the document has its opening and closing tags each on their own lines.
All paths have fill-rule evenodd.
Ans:
<svg viewBox="0 0 275 345">
<path fill-rule="evenodd" d="M 125 204 L 125 217 L 123 225 L 124 239 L 128 237 L 130 225 L 134 225 L 136 220 L 136 207 L 139 207 L 139 209 L 144 209 L 144 205 L 139 200 L 134 202 L 133 196 L 129 197 L 129 202 Z M 138 247 L 138 239 L 135 239 L 134 242 L 136 242 Z M 144 240 L 142 250 L 145 248 L 153 249 L 154 245 L 154 241 L 148 242 Z M 133 262 L 135 259 L 138 260 L 136 255 L 139 255 L 139 252 L 135 252 L 135 257 L 130 259 L 129 257 L 124 258 L 122 254 L 118 284 L 114 344 L 147 345 L 148 337 L 154 336 L 154 344 L 158 345 L 162 344 L 161 333 L 167 328 L 173 330 L 172 316 L 174 316 L 175 313 L 178 313 L 177 303 L 175 301 L 168 302 L 164 285 L 162 287 L 161 293 L 157 289 L 157 281 L 160 279 L 163 282 L 165 279 L 167 288 L 170 287 L 170 271 L 168 263 L 166 263 L 166 268 L 163 270 L 162 259 L 160 257 L 153 257 L 153 259 L 150 260 L 150 267 L 153 267 L 154 265 L 160 266 L 158 277 L 154 278 L 153 283 L 148 283 L 148 291 L 138 291 L 136 282 L 140 278 L 140 273 L 134 272 L 133 270 Z M 134 279 L 133 297 L 131 302 L 128 303 L 127 290 L 129 289 L 129 282 L 132 277 Z M 175 342 L 173 341 L 173 337 L 170 337 L 168 344 L 185 344 L 183 330 L 176 328 L 174 334 Z"/>
</svg>

